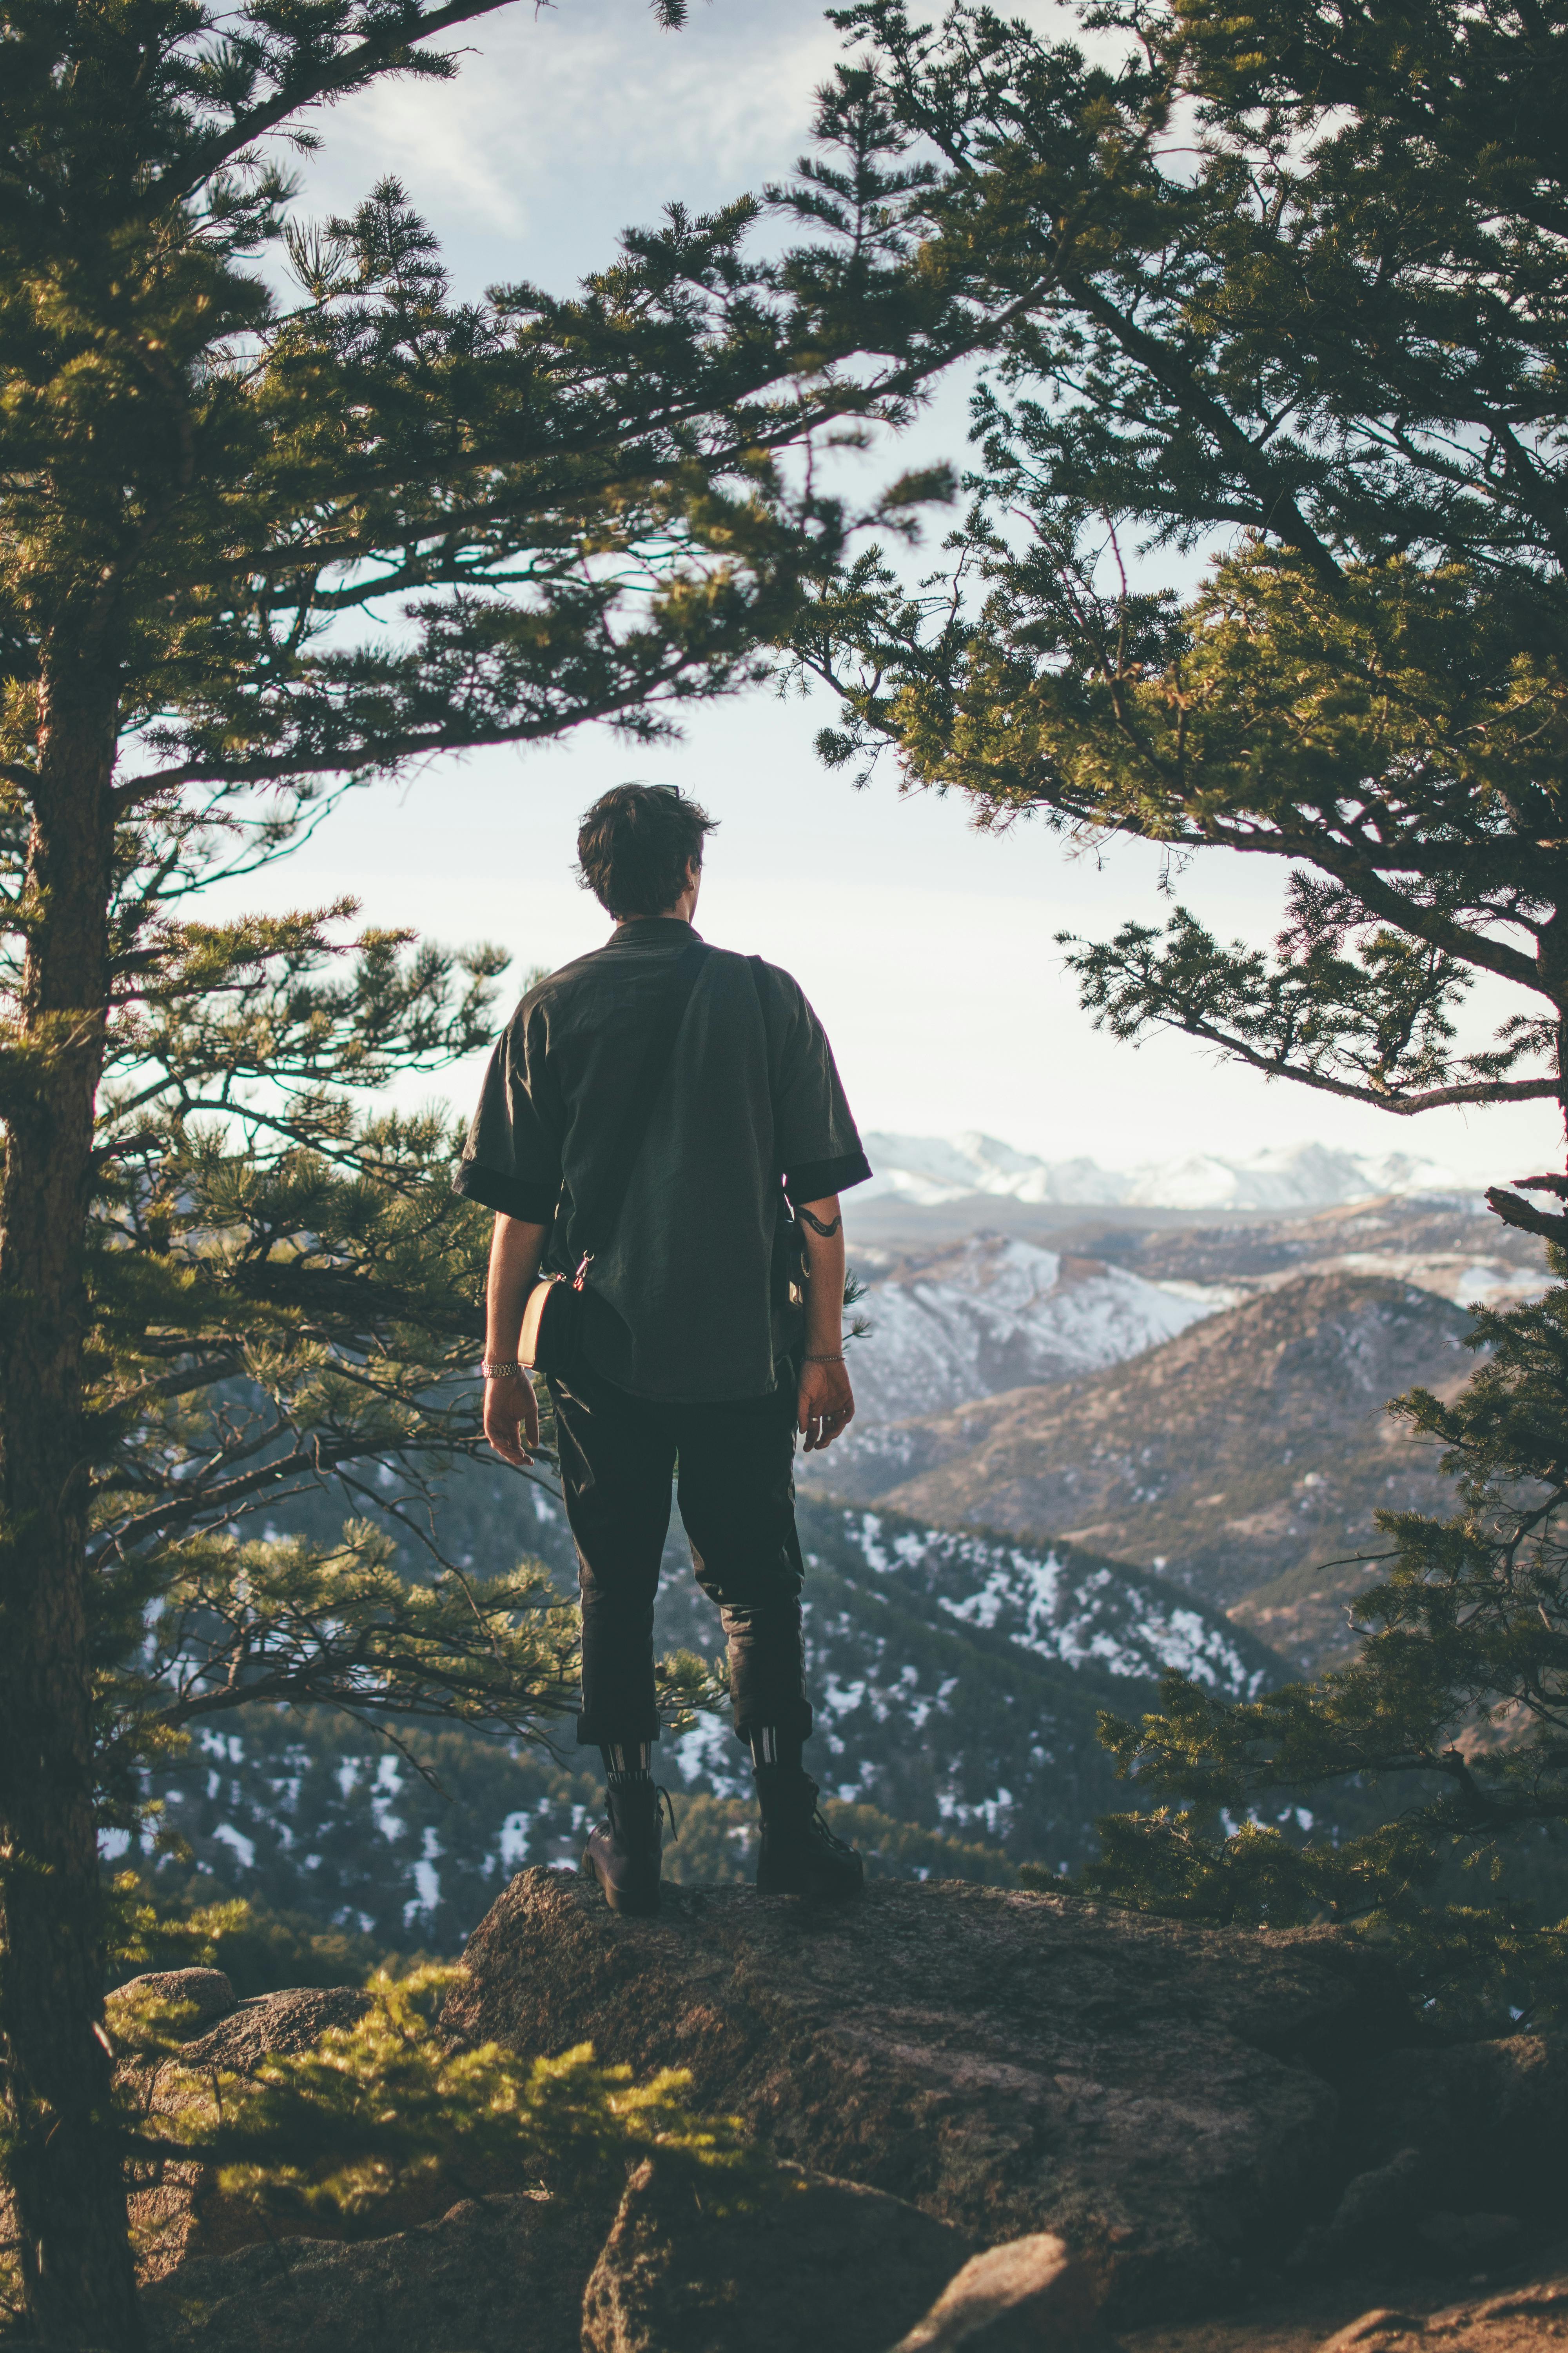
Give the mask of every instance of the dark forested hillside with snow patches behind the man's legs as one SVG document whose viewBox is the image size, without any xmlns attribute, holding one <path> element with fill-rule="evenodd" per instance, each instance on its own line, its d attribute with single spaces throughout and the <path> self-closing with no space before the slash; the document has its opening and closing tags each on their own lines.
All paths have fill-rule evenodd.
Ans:
<svg viewBox="0 0 1568 2353">
<path fill-rule="evenodd" d="M 463 1553 L 503 1541 L 508 1520 L 564 1581 L 564 1525 L 541 1489 L 473 1466 L 440 1501 L 442 1541 Z M 1006 1880 L 1020 1861 L 1077 1868 L 1095 1852 L 1095 1817 L 1121 1802 L 1095 1741 L 1103 1706 L 1152 1704 L 1168 1666 L 1225 1697 L 1279 1680 L 1279 1661 L 1218 1612 L 1070 1548 L 830 1504 L 802 1506 L 802 1541 L 818 1704 L 806 1758 L 879 1871 Z M 679 1525 L 658 1635 L 722 1652 Z M 599 1760 L 576 1751 L 569 1718 L 555 1753 L 416 1725 L 397 1741 L 315 1711 L 244 1708 L 162 1777 L 165 1819 L 207 1892 L 381 1948 L 456 1951 L 522 1864 L 576 1861 L 602 1802 Z M 750 1765 L 726 1718 L 665 1739 L 658 1772 L 677 1793 L 672 1875 L 743 1875 Z"/>
</svg>

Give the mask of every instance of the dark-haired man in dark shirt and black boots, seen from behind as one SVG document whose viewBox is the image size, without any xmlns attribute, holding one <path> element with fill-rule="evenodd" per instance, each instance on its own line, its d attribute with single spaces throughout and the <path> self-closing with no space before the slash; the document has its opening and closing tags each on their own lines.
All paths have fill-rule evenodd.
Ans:
<svg viewBox="0 0 1568 2353">
<path fill-rule="evenodd" d="M 832 1445 L 856 1409 L 839 1193 L 870 1165 L 799 984 L 691 927 L 712 831 L 672 786 L 592 805 L 578 871 L 616 929 L 512 1014 L 454 1179 L 496 1212 L 484 1435 L 510 1464 L 538 1445 L 524 1358 L 555 1402 L 583 1593 L 578 1741 L 609 1781 L 583 1864 L 630 1913 L 658 1911 L 654 1595 L 672 1478 L 752 1751 L 757 1887 L 863 1880 L 802 1765 L 792 1457 L 797 1431 L 806 1452 Z M 541 1292 L 541 1266 L 576 1297 Z M 529 1348 L 541 1301 L 555 1339 Z"/>
</svg>

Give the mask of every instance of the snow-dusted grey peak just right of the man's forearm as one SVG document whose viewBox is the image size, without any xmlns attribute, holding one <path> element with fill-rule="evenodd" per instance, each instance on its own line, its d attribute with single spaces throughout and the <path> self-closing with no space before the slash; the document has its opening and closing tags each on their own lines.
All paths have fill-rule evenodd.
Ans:
<svg viewBox="0 0 1568 2353">
<path fill-rule="evenodd" d="M 914 1259 L 856 1249 L 870 1337 L 851 1348 L 860 1426 L 1067 1381 L 1234 1306 L 1222 1282 L 1147 1282 L 994 1233 Z"/>
</svg>

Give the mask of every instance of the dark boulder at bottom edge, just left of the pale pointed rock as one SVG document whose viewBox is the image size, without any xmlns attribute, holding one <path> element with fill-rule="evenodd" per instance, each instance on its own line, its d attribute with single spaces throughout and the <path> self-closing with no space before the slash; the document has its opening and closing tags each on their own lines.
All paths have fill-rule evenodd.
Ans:
<svg viewBox="0 0 1568 2353">
<path fill-rule="evenodd" d="M 583 2353 L 882 2353 L 971 2252 L 952 2224 L 790 2167 L 783 2195 L 724 2212 L 642 2162 L 588 2280 Z"/>
</svg>

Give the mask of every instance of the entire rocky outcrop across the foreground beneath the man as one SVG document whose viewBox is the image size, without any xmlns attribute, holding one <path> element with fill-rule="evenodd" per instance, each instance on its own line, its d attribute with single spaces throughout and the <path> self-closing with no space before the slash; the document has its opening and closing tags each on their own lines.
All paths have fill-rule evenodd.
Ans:
<svg viewBox="0 0 1568 2353">
<path fill-rule="evenodd" d="M 150 2108 L 362 2000 L 223 2007 L 216 1972 L 183 1977 L 110 2002 L 127 2035 L 143 1995 L 186 2009 L 174 2059 L 125 2061 Z M 621 1920 L 529 1871 L 447 2026 L 686 2066 L 696 2106 L 738 2113 L 780 2172 L 693 2186 L 672 2153 L 588 2200 L 494 2181 L 508 2195 L 451 2207 L 423 2181 L 376 2240 L 256 2245 L 249 2207 L 169 2165 L 134 2200 L 155 2353 L 1324 2353 L 1335 2327 L 1335 2353 L 1568 2346 L 1540 2228 L 1568 2054 L 1422 2040 L 1333 1932 L 910 1882 L 839 1911 L 682 1887 Z M 1265 2306 L 1260 2332 L 1241 2315 Z"/>
</svg>

